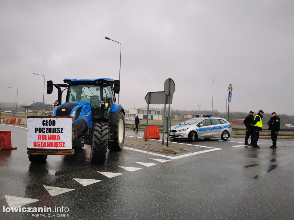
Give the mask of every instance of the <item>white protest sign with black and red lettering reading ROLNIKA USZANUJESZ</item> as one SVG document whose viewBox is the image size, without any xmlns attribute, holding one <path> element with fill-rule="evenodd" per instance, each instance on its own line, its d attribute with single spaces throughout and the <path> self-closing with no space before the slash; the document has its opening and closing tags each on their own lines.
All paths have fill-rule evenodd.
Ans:
<svg viewBox="0 0 294 220">
<path fill-rule="evenodd" d="M 72 149 L 71 118 L 27 118 L 27 148 Z"/>
</svg>

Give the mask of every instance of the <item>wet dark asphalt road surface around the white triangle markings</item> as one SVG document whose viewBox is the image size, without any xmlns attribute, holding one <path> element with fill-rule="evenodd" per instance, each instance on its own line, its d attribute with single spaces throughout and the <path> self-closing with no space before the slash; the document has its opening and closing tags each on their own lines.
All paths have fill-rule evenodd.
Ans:
<svg viewBox="0 0 294 220">
<path fill-rule="evenodd" d="M 0 130 L 11 130 L 12 146 L 18 147 L 0 150 L 1 207 L 9 207 L 9 195 L 39 200 L 22 207 L 69 209 L 7 213 L 1 208 L 0 219 L 294 219 L 293 139 L 278 139 L 277 149 L 269 148 L 269 139 L 258 141 L 261 149 L 238 146 L 240 138 L 185 141 L 222 150 L 163 163 L 153 159 L 166 158 L 123 149 L 108 152 L 105 164 L 92 165 L 86 146 L 73 156 L 49 155 L 45 164 L 33 164 L 26 154 L 26 129 L 0 124 Z M 97 171 L 122 175 L 108 178 Z M 101 181 L 83 186 L 73 178 Z M 51 196 L 44 185 L 74 190 Z M 68 217 L 48 217 L 56 213 Z"/>
</svg>

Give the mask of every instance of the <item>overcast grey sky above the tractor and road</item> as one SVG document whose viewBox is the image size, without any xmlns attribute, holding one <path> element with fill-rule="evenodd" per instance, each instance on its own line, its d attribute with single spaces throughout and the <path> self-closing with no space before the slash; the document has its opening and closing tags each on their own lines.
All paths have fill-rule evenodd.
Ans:
<svg viewBox="0 0 294 220">
<path fill-rule="evenodd" d="M 2 102 L 16 99 L 6 86 L 19 104 L 42 101 L 44 77 L 33 73 L 118 79 L 109 37 L 122 45 L 124 108 L 147 106 L 147 92 L 172 78 L 174 109 L 211 110 L 214 81 L 213 109 L 226 110 L 232 84 L 230 111 L 294 114 L 293 0 L 0 0 L 0 30 Z"/>
</svg>

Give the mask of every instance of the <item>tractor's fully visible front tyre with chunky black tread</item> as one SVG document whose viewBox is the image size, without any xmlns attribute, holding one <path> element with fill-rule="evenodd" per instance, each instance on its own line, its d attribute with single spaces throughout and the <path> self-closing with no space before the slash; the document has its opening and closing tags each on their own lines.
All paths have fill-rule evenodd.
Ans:
<svg viewBox="0 0 294 220">
<path fill-rule="evenodd" d="M 91 163 L 104 163 L 106 160 L 108 145 L 108 123 L 98 122 L 94 124 L 93 143 L 91 147 Z"/>
</svg>

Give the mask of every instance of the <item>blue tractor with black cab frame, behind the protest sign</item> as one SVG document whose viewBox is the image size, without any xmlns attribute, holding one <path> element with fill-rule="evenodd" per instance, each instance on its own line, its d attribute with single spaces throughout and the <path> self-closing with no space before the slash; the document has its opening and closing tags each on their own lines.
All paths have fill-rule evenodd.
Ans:
<svg viewBox="0 0 294 220">
<path fill-rule="evenodd" d="M 73 148 L 79 150 L 85 144 L 91 145 L 91 163 L 104 163 L 107 148 L 121 150 L 125 138 L 125 112 L 121 104 L 115 103 L 120 81 L 64 79 L 64 83 L 47 81 L 47 94 L 52 93 L 53 86 L 58 89 L 53 116 L 73 116 Z M 67 89 L 65 103 L 61 102 L 61 95 L 66 89 L 61 87 Z"/>
</svg>

